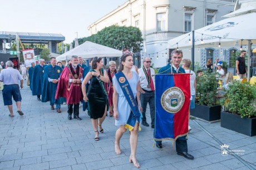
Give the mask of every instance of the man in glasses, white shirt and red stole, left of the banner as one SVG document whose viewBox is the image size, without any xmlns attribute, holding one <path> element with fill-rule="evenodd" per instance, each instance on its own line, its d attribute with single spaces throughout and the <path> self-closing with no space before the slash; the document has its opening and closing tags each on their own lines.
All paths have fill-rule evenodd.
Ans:
<svg viewBox="0 0 256 170">
<path fill-rule="evenodd" d="M 140 77 L 140 86 L 141 89 L 145 92 L 142 92 L 140 95 L 140 102 L 142 107 L 142 122 L 144 126 L 149 126 L 146 122 L 146 108 L 149 104 L 150 108 L 150 117 L 151 117 L 151 128 L 155 127 L 155 70 L 150 68 L 151 59 L 146 57 L 143 59 L 143 66 L 140 68 L 139 77 Z"/>
</svg>

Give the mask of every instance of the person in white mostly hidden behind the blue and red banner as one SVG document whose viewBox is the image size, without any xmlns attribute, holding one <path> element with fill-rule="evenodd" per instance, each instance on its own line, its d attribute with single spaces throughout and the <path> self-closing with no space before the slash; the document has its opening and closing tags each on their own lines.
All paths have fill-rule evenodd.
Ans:
<svg viewBox="0 0 256 170">
<path fill-rule="evenodd" d="M 183 69 L 186 73 L 190 73 L 190 109 L 195 109 L 195 91 L 196 91 L 196 75 L 195 72 L 190 70 L 191 60 L 183 59 L 182 61 Z M 189 126 L 189 131 L 191 131 L 191 127 Z"/>
</svg>

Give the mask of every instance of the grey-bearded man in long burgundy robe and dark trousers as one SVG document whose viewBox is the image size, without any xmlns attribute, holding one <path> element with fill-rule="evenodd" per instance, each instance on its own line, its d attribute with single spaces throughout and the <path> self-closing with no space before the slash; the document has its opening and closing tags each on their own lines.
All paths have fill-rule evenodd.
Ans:
<svg viewBox="0 0 256 170">
<path fill-rule="evenodd" d="M 82 120 L 79 117 L 79 104 L 83 99 L 81 83 L 83 81 L 83 69 L 78 65 L 78 57 L 72 55 L 71 64 L 65 66 L 58 81 L 55 98 L 66 97 L 68 107 L 68 120 Z M 73 107 L 74 106 L 74 107 Z"/>
</svg>

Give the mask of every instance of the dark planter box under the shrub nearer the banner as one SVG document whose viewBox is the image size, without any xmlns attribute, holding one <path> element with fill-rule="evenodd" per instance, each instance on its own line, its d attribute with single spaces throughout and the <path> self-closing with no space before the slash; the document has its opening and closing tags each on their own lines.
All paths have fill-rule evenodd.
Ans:
<svg viewBox="0 0 256 170">
<path fill-rule="evenodd" d="M 221 106 L 204 106 L 195 104 L 195 109 L 190 110 L 190 115 L 206 121 L 220 120 Z"/>
</svg>

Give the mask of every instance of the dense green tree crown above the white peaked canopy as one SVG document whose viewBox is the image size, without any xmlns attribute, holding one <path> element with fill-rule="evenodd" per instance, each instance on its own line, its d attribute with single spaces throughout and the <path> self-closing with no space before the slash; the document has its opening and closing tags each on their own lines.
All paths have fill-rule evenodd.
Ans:
<svg viewBox="0 0 256 170">
<path fill-rule="evenodd" d="M 90 37 L 78 39 L 79 44 L 86 41 L 105 45 L 117 50 L 127 48 L 135 53 L 140 51 L 140 45 L 143 39 L 139 28 L 112 25 L 100 30 L 97 34 L 93 34 Z"/>
</svg>

